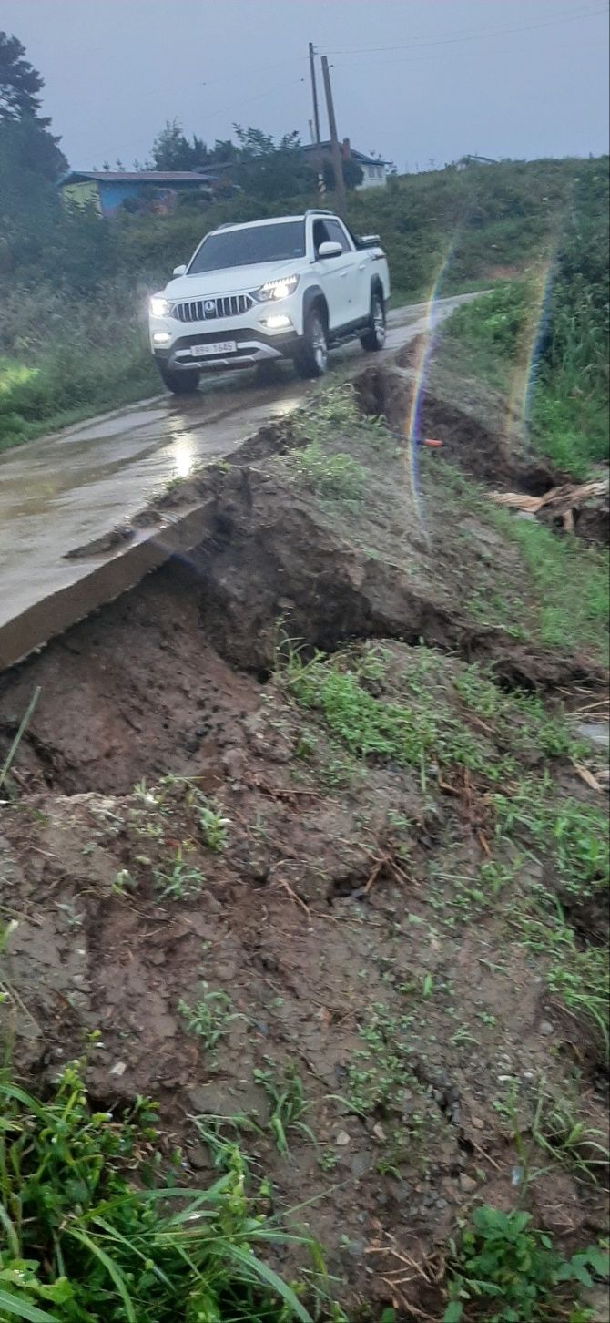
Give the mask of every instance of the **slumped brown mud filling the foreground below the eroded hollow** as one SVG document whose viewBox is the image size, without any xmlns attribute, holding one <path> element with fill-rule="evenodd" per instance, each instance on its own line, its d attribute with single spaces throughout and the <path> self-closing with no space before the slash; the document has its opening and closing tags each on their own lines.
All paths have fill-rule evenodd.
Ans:
<svg viewBox="0 0 610 1323">
<path fill-rule="evenodd" d="M 151 589 L 138 622 L 143 635 L 151 631 L 142 659 L 156 647 L 163 673 L 179 652 L 160 644 L 175 635 L 184 652 L 191 609 L 187 595 L 173 611 L 168 595 L 159 598 L 161 626 Z M 93 648 L 94 635 L 86 642 Z M 98 638 L 89 718 L 95 704 L 109 721 L 122 704 L 118 669 L 101 647 Z M 64 654 L 66 665 L 74 655 Z M 347 664 L 367 655 L 356 651 Z M 413 667 L 417 676 L 419 650 L 386 642 L 382 656 L 386 679 L 370 684 L 390 699 Z M 427 681 L 438 687 L 435 701 L 459 675 L 460 663 L 441 659 Z M 519 1158 L 496 1110 L 505 1081 L 521 1082 L 523 1152 L 540 1080 L 561 1094 L 566 1073 L 584 1062 L 582 1035 L 553 1007 L 540 974 L 532 978 L 531 954 L 507 943 L 509 902 L 508 910 L 499 900 L 483 904 L 475 923 L 460 908 L 454 878 L 475 885 L 486 859 L 483 786 L 449 769 L 425 785 L 417 769 L 374 758 L 359 769 L 283 681 L 236 676 L 204 647 L 195 693 L 191 683 L 175 684 L 175 710 L 163 721 L 157 700 L 138 692 L 135 747 L 115 745 L 106 763 L 97 749 L 98 785 L 147 771 L 134 791 L 30 790 L 4 812 L 1 876 L 19 927 L 3 1015 L 17 1069 L 44 1089 L 99 1031 L 87 1068 L 93 1097 L 114 1106 L 155 1095 L 168 1146 L 183 1146 L 187 1179 L 212 1177 L 205 1134 L 238 1138 L 254 1171 L 271 1177 L 278 1213 L 312 1200 L 298 1221 L 326 1245 L 348 1308 L 367 1302 L 377 1318 L 393 1302 L 401 1319 L 412 1307 L 439 1316 L 442 1293 L 431 1283 L 455 1220 L 478 1197 L 513 1205 Z M 196 730 L 201 717 L 206 728 Z M 66 732 L 73 718 L 67 712 Z M 148 747 L 147 722 L 156 736 Z M 93 775 L 91 721 L 87 734 L 81 785 L 87 766 Z M 494 734 L 479 737 L 491 757 Z M 161 765 L 193 779 L 159 785 Z M 22 787 L 30 775 L 33 786 L 21 763 Z M 54 775 L 74 789 L 75 762 L 65 759 Z M 201 791 L 218 796 L 229 823 L 220 853 L 201 835 Z M 198 877 L 196 892 L 164 900 L 155 877 L 167 876 L 177 849 Z M 205 990 L 230 996 L 232 1020 L 213 1052 L 180 1013 Z M 372 1060 L 363 1033 L 373 1035 Z M 270 1102 L 255 1070 L 271 1072 L 278 1086 L 294 1073 L 303 1082 L 308 1131 L 288 1129 L 287 1156 L 267 1130 Z M 364 1089 L 364 1103 L 355 1103 L 363 1111 L 349 1105 L 355 1089 Z M 237 1115 L 249 1129 L 236 1131 Z M 585 1093 L 578 1115 L 603 1127 L 602 1097 Z M 528 1207 L 566 1249 L 603 1228 L 599 1189 L 569 1171 L 536 1180 Z M 418 1265 L 400 1286 L 396 1253 Z M 278 1266 L 290 1270 L 291 1259 Z"/>
</svg>

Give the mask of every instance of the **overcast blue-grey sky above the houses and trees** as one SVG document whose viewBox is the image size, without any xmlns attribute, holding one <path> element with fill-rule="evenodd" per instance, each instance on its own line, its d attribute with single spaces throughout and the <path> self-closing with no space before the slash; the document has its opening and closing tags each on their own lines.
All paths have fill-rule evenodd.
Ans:
<svg viewBox="0 0 610 1323">
<path fill-rule="evenodd" d="M 143 161 L 173 118 L 208 143 L 234 120 L 307 140 L 308 41 L 339 136 L 400 171 L 607 151 L 607 0 L 0 0 L 0 29 L 74 168 Z"/>
</svg>

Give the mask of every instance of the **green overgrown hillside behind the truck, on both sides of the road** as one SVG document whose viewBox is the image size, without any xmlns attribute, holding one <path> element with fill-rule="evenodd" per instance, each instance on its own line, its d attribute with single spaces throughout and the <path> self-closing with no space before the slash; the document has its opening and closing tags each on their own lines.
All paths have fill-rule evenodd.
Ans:
<svg viewBox="0 0 610 1323">
<path fill-rule="evenodd" d="M 394 303 L 418 299 L 439 275 L 441 292 L 475 288 L 546 251 L 578 172 L 594 165 L 516 161 L 404 176 L 386 189 L 353 194 L 349 221 L 356 230 L 380 232 Z M 142 328 L 147 290 L 164 283 L 208 226 L 277 210 L 278 204 L 240 198 L 205 213 L 126 216 L 103 233 L 90 218 L 66 222 L 66 234 L 60 226 L 44 269 L 17 271 L 21 287 L 4 291 L 0 450 L 153 392 L 157 378 Z"/>
</svg>

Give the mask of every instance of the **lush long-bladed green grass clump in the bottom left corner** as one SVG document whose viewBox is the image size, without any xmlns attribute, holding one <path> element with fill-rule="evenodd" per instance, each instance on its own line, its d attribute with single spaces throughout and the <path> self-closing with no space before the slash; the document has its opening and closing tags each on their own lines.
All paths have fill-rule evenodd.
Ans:
<svg viewBox="0 0 610 1323">
<path fill-rule="evenodd" d="M 29 1323 L 286 1323 L 310 1315 L 266 1263 L 287 1237 L 232 1170 L 163 1174 L 155 1113 L 90 1109 L 78 1065 L 46 1101 L 0 1082 L 0 1312 Z M 262 1254 L 262 1257 L 258 1257 Z"/>
</svg>

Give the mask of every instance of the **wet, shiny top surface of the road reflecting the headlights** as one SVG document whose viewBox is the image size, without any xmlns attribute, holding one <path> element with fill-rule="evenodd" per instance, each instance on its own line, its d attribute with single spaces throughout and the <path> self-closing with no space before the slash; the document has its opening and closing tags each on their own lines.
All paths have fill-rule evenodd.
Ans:
<svg viewBox="0 0 610 1323">
<path fill-rule="evenodd" d="M 439 318 L 472 295 L 443 299 Z M 388 359 L 425 328 L 425 304 L 389 316 Z M 365 363 L 360 345 L 336 351 L 331 370 L 349 376 Z M 208 378 L 195 398 L 159 396 L 29 442 L 0 456 L 0 628 L 34 603 L 75 583 L 90 561 L 66 561 L 135 515 L 195 464 L 230 455 L 246 437 L 291 413 L 311 390 L 290 364 L 274 385 L 250 372 Z"/>
</svg>

